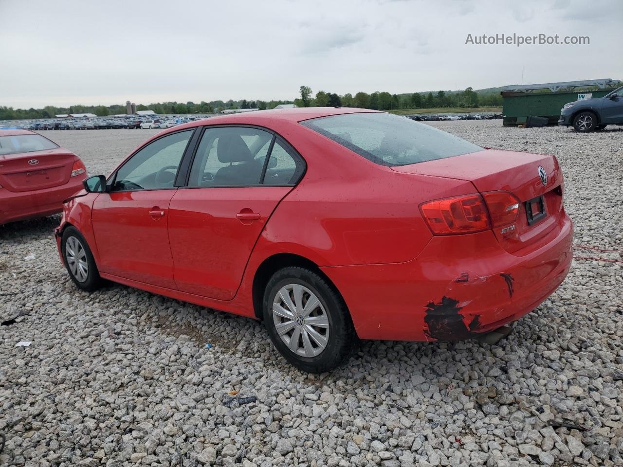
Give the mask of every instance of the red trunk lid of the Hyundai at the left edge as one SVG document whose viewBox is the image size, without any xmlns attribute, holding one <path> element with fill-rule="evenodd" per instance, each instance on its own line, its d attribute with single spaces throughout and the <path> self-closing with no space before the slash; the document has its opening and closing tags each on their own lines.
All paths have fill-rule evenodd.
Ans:
<svg viewBox="0 0 623 467">
<path fill-rule="evenodd" d="M 0 186 L 24 192 L 64 185 L 75 159 L 74 154 L 60 148 L 0 156 Z"/>
</svg>

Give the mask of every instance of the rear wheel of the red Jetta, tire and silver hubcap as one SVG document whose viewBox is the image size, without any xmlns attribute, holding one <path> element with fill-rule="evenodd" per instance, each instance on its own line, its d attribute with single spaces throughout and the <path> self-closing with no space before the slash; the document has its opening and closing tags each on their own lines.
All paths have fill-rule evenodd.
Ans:
<svg viewBox="0 0 623 467">
<path fill-rule="evenodd" d="M 270 340 L 300 370 L 332 370 L 357 347 L 346 303 L 314 271 L 300 267 L 278 270 L 265 288 L 263 304 Z"/>
</svg>

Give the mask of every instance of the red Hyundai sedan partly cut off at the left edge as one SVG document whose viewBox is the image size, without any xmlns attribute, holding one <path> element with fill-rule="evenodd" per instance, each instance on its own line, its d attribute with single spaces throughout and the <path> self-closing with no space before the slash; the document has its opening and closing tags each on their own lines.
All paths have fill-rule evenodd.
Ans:
<svg viewBox="0 0 623 467">
<path fill-rule="evenodd" d="M 62 212 L 86 177 L 78 156 L 44 136 L 0 130 L 0 225 Z"/>
</svg>

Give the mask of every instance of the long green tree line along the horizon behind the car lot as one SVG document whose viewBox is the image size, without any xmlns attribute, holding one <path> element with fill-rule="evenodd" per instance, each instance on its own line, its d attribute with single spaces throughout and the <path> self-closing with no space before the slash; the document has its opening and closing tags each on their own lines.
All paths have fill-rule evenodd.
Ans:
<svg viewBox="0 0 623 467">
<path fill-rule="evenodd" d="M 308 86 L 300 87 L 300 97 L 295 100 L 214 100 L 194 103 L 158 102 L 149 105 L 136 105 L 136 110 L 153 110 L 158 114 L 215 113 L 225 109 L 258 108 L 266 110 L 280 104 L 295 103 L 299 107 L 359 107 L 374 110 L 398 110 L 437 107 L 478 107 L 501 106 L 500 93 L 478 93 L 472 88 L 464 91 L 439 91 L 437 93 L 391 94 L 389 92 L 358 92 L 355 95 L 318 91 L 312 95 Z M 125 115 L 125 105 L 72 105 L 70 107 L 45 106 L 44 108 L 14 109 L 0 106 L 0 120 L 20 120 L 22 118 L 52 118 L 65 113 L 94 113 L 98 116 Z"/>
</svg>

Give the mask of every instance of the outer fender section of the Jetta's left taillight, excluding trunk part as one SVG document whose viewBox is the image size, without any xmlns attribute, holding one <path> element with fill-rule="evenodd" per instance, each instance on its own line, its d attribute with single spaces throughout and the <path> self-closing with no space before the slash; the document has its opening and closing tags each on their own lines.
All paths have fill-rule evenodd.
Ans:
<svg viewBox="0 0 623 467">
<path fill-rule="evenodd" d="M 487 207 L 479 194 L 429 201 L 420 209 L 437 235 L 472 234 L 491 229 Z"/>
</svg>

